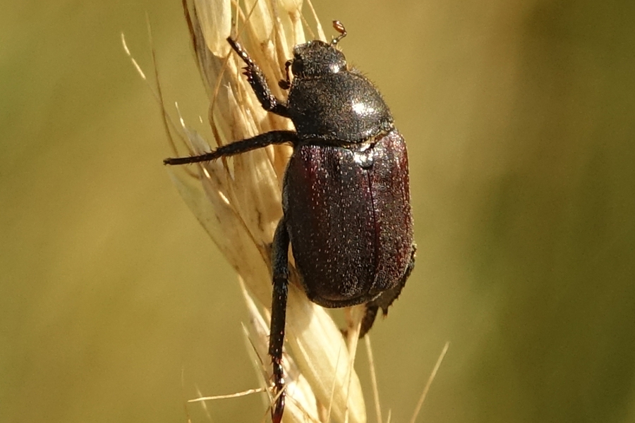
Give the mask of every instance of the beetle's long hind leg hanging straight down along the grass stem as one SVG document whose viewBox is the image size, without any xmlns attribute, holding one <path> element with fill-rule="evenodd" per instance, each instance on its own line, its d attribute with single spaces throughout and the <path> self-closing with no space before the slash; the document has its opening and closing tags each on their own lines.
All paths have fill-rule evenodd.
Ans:
<svg viewBox="0 0 635 423">
<path fill-rule="evenodd" d="M 277 400 L 271 409 L 273 423 L 279 423 L 284 411 L 284 371 L 282 369 L 282 344 L 286 319 L 286 296 L 289 284 L 289 232 L 284 217 L 280 219 L 272 246 L 273 293 L 271 304 L 271 329 L 269 355 L 273 364 L 273 379 Z"/>
</svg>

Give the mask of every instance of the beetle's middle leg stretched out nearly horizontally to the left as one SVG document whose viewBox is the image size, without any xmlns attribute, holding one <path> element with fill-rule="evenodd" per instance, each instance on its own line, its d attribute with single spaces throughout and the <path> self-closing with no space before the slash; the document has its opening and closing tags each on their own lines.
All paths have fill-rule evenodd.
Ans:
<svg viewBox="0 0 635 423">
<path fill-rule="evenodd" d="M 245 153 L 253 149 L 267 147 L 272 144 L 284 144 L 298 142 L 298 133 L 293 130 L 272 130 L 268 133 L 256 135 L 246 140 L 234 141 L 226 145 L 218 147 L 213 152 L 200 154 L 200 156 L 174 157 L 165 159 L 163 164 L 188 164 L 198 163 L 199 161 L 212 161 L 221 157 L 234 156 L 236 154 Z"/>
</svg>

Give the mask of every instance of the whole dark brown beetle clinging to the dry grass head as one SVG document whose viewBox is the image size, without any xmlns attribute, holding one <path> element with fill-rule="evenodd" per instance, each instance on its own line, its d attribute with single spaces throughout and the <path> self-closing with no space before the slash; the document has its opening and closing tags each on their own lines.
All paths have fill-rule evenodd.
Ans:
<svg viewBox="0 0 635 423">
<path fill-rule="evenodd" d="M 244 74 L 266 111 L 291 119 L 296 128 L 272 130 L 231 142 L 210 153 L 165 159 L 189 164 L 290 143 L 294 152 L 283 183 L 283 217 L 272 244 L 272 315 L 269 354 L 279 423 L 285 391 L 282 345 L 289 283 L 289 245 L 308 298 L 322 307 L 365 303 L 360 337 L 379 309 L 387 314 L 414 267 L 416 245 L 410 206 L 408 156 L 404 137 L 380 92 L 350 68 L 337 44 L 308 41 L 286 61 L 286 102 L 271 92 L 264 73 L 241 44 L 227 41 L 245 62 Z M 294 78 L 291 80 L 289 71 Z"/>
</svg>

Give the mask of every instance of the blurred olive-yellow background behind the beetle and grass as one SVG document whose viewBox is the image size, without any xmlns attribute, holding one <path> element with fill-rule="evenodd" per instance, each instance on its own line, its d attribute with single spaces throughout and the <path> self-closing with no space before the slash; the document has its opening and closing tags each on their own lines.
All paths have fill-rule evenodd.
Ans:
<svg viewBox="0 0 635 423">
<path fill-rule="evenodd" d="M 635 421 L 635 4 L 315 7 L 409 143 L 417 266 L 371 333 L 384 417 L 409 419 L 451 341 L 420 422 Z M 197 391 L 257 384 L 235 276 L 121 48 L 151 73 L 146 12 L 167 104 L 196 123 L 179 1 L 2 7 L 1 422 L 185 422 Z M 264 416 L 257 396 L 209 407 Z"/>
</svg>

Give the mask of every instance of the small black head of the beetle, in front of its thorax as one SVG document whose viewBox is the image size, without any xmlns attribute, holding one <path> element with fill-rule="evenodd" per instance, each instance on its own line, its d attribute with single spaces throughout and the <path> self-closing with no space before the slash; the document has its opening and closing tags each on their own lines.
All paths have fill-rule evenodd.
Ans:
<svg viewBox="0 0 635 423">
<path fill-rule="evenodd" d="M 291 71 L 296 78 L 346 71 L 346 57 L 333 43 L 315 39 L 294 47 Z"/>
</svg>

